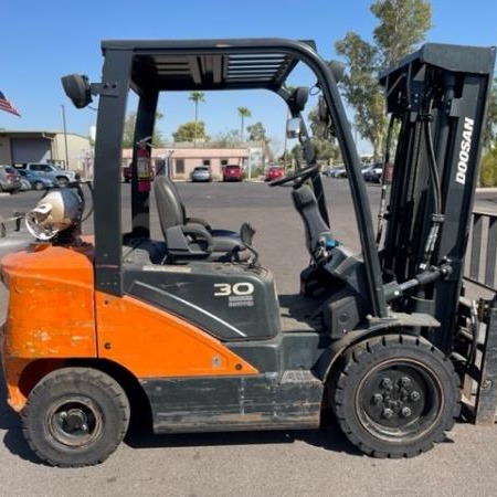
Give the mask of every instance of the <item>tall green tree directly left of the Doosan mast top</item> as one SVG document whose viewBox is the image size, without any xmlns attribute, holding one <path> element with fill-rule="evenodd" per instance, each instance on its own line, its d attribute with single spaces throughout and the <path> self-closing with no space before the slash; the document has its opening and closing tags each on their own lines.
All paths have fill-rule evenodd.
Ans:
<svg viewBox="0 0 497 497">
<path fill-rule="evenodd" d="M 378 76 L 424 40 L 432 11 L 425 0 L 377 0 L 371 12 L 379 20 L 373 31 L 374 44 L 349 32 L 336 43 L 336 50 L 347 60 L 348 73 L 341 88 L 356 113 L 356 127 L 371 141 L 378 160 L 387 133 L 384 96 L 377 83 Z"/>
</svg>

